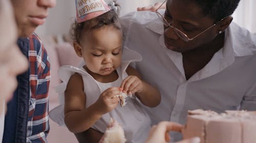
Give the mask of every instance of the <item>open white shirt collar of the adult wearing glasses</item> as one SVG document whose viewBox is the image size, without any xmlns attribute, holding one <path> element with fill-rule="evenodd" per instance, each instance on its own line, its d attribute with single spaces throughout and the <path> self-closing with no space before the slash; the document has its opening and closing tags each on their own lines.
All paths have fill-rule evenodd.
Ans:
<svg viewBox="0 0 256 143">
<path fill-rule="evenodd" d="M 184 75 L 184 69 L 182 65 L 182 54 L 169 50 L 164 44 L 164 30 L 163 24 L 160 20 L 154 19 L 154 21 L 147 24 L 147 28 L 157 34 L 159 34 L 159 43 L 166 50 L 167 55 L 174 62 L 176 67 Z M 226 67 L 230 66 L 236 56 L 253 55 L 256 52 L 256 36 L 249 31 L 241 28 L 236 23 L 231 22 L 229 27 L 225 30 L 225 43 L 212 57 L 211 61 L 197 74 L 191 77 L 190 81 L 206 78 L 214 75 Z"/>
</svg>

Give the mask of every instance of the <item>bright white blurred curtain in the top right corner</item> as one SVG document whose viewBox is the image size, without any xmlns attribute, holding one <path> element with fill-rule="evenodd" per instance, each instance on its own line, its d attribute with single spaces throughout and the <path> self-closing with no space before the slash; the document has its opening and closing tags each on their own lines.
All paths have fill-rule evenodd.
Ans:
<svg viewBox="0 0 256 143">
<path fill-rule="evenodd" d="M 256 33 L 256 1 L 241 0 L 233 13 L 233 21 L 249 31 Z"/>
</svg>

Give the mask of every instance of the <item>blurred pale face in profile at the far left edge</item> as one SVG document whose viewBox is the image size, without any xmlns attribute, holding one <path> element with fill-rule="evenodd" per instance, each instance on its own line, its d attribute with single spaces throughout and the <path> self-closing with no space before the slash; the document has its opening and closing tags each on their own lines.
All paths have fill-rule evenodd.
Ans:
<svg viewBox="0 0 256 143">
<path fill-rule="evenodd" d="M 8 102 L 17 87 L 16 76 L 28 68 L 16 45 L 17 27 L 9 1 L 0 0 L 0 104 Z M 2 106 L 1 106 L 2 107 Z M 0 107 L 0 112 L 2 108 Z"/>
</svg>

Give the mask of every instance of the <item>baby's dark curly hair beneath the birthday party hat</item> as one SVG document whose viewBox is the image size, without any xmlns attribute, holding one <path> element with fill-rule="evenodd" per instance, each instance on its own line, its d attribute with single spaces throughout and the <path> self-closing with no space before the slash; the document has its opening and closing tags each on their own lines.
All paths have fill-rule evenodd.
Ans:
<svg viewBox="0 0 256 143">
<path fill-rule="evenodd" d="M 110 10 L 100 16 L 93 19 L 78 23 L 77 20 L 72 24 L 70 29 L 70 37 L 73 41 L 80 43 L 82 34 L 88 32 L 104 25 L 113 25 L 116 30 L 121 30 L 120 23 L 118 21 L 119 8 L 120 6 L 115 2 L 115 6 L 118 7 L 117 11 Z"/>
</svg>

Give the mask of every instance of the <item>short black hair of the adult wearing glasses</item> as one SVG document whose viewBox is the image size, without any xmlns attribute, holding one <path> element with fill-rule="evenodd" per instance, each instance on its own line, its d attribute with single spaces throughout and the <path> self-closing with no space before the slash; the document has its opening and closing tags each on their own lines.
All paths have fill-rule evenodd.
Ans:
<svg viewBox="0 0 256 143">
<path fill-rule="evenodd" d="M 240 0 L 189 0 L 202 8 L 202 12 L 215 22 L 230 16 L 237 9 Z"/>
</svg>

